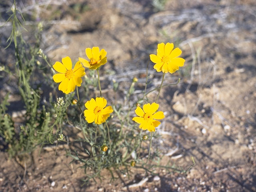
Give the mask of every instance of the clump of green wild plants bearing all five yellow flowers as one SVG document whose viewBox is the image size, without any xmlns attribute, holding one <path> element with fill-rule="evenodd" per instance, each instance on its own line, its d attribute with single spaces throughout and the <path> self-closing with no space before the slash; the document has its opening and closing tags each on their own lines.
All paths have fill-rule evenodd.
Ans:
<svg viewBox="0 0 256 192">
<path fill-rule="evenodd" d="M 67 154 L 73 158 L 73 161 L 82 162 L 85 172 L 84 183 L 88 183 L 90 179 L 95 180 L 96 177 L 101 178 L 100 173 L 104 168 L 110 171 L 112 179 L 115 178 L 114 171 L 126 170 L 126 174 L 129 174 L 129 166 L 152 172 L 152 169 L 158 166 L 153 160 L 161 159 L 158 152 L 150 153 L 153 133 L 164 119 L 164 108 L 158 104 L 158 97 L 164 74 L 168 72 L 172 74 L 184 65 L 185 60 L 179 57 L 181 50 L 174 48 L 172 43 L 160 43 L 157 54 L 150 54 L 149 58 L 155 63 L 156 71 L 163 73 L 160 87 L 154 89 L 158 90 L 154 102 L 152 98 L 146 97 L 149 93 L 146 92 L 148 64 L 143 96 L 138 100 L 131 99 L 134 87 L 138 83 L 138 78 L 135 77 L 131 80 L 130 88 L 127 89 L 126 102 L 122 102 L 121 105 L 115 101 L 116 97 L 111 94 L 104 95 L 101 90 L 100 68 L 107 64 L 106 50 L 100 50 L 97 46 L 86 48 L 88 60 L 78 57 L 74 66 L 69 56 L 63 57 L 62 62 L 56 61 L 51 64 L 40 48 L 42 23 L 38 24 L 38 34 L 36 34 L 38 43 L 32 52 L 26 52 L 24 50 L 26 44 L 22 36 L 19 35 L 19 41 L 16 36 L 18 34 L 15 31 L 16 25 L 20 25 L 16 14 L 14 0 L 14 11 L 10 16 L 14 31 L 9 41 L 10 44 L 14 43 L 16 65 L 19 68 L 15 75 L 19 79 L 17 86 L 26 108 L 26 118 L 20 128 L 14 126 L 13 120 L 7 113 L 9 105 L 7 94 L 0 104 L 0 114 L 3 114 L 0 116 L 0 135 L 8 144 L 10 155 L 17 156 L 20 153 L 31 152 L 36 146 L 43 147 L 44 144 L 57 145 L 66 142 L 68 138 L 66 128 L 71 126 L 72 129 L 82 132 L 83 137 L 77 136 L 74 141 L 84 144 L 83 149 L 80 150 L 87 156 L 80 156 L 79 152 L 71 149 L 67 150 Z M 34 84 L 31 70 L 41 72 L 51 88 L 47 101 L 43 102 L 42 91 Z M 10 70 L 4 68 L 3 71 Z M 116 80 L 113 80 L 113 90 L 118 91 Z M 150 141 L 148 133 L 151 134 Z M 154 136 L 157 138 L 158 135 L 154 134 Z M 72 144 L 75 143 L 70 142 L 70 145 Z M 149 160 L 152 164 L 148 163 Z M 165 168 L 172 169 L 172 167 Z"/>
</svg>

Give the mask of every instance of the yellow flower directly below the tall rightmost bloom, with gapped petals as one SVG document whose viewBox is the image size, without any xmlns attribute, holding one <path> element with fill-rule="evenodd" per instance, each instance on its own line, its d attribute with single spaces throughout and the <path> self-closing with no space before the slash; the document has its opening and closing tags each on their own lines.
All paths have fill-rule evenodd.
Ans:
<svg viewBox="0 0 256 192">
<path fill-rule="evenodd" d="M 140 129 L 148 130 L 150 132 L 154 132 L 156 127 L 161 123 L 154 119 L 163 119 L 164 113 L 162 111 L 158 111 L 159 104 L 156 103 L 148 103 L 144 104 L 143 110 L 140 107 L 137 107 L 135 113 L 138 117 L 132 118 L 133 121 L 140 124 Z"/>
</svg>

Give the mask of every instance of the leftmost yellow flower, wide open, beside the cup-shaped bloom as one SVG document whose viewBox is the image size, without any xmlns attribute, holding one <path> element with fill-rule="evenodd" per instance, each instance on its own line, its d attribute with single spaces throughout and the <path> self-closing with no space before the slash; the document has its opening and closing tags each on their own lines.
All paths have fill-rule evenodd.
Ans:
<svg viewBox="0 0 256 192">
<path fill-rule="evenodd" d="M 58 61 L 55 62 L 53 68 L 59 73 L 52 76 L 52 78 L 56 83 L 61 82 L 59 90 L 68 94 L 73 92 L 76 86 L 81 86 L 81 77 L 85 75 L 85 72 L 80 61 L 76 62 L 74 69 L 72 69 L 72 61 L 70 57 L 62 58 L 62 63 Z"/>
</svg>

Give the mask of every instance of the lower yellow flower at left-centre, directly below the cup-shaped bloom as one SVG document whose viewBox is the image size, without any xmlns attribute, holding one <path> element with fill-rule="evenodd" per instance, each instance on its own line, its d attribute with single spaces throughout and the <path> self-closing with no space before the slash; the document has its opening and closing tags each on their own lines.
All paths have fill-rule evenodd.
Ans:
<svg viewBox="0 0 256 192">
<path fill-rule="evenodd" d="M 91 98 L 91 100 L 87 101 L 84 105 L 87 108 L 84 110 L 84 116 L 88 123 L 95 122 L 96 124 L 102 124 L 103 122 L 106 122 L 110 113 L 113 112 L 111 106 L 106 107 L 107 100 L 104 97 L 97 97 L 96 100 Z"/>
</svg>

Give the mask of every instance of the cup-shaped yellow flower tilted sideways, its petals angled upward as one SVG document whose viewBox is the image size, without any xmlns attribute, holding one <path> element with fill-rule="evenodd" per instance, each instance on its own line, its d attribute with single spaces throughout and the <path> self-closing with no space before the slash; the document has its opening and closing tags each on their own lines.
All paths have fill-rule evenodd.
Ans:
<svg viewBox="0 0 256 192">
<path fill-rule="evenodd" d="M 86 48 L 85 54 L 89 58 L 89 61 L 81 57 L 78 59 L 85 67 L 89 68 L 90 70 L 96 70 L 107 62 L 107 52 L 104 49 L 100 50 L 99 47 L 93 47 L 92 49 Z"/>
</svg>

